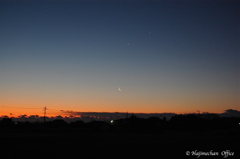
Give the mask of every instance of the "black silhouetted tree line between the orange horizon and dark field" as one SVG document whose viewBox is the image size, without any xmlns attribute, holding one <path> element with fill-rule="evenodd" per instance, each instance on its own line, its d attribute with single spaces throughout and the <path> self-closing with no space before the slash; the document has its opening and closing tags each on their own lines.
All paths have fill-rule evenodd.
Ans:
<svg viewBox="0 0 240 159">
<path fill-rule="evenodd" d="M 85 123 L 81 120 L 67 123 L 63 119 L 48 122 L 13 122 L 11 118 L 0 121 L 0 130 L 29 129 L 29 130 L 78 130 L 78 131 L 111 131 L 111 132 L 209 132 L 236 131 L 240 132 L 240 117 L 219 117 L 217 114 L 187 114 L 175 115 L 170 120 L 150 117 L 129 118 L 112 121 L 92 121 Z"/>
</svg>

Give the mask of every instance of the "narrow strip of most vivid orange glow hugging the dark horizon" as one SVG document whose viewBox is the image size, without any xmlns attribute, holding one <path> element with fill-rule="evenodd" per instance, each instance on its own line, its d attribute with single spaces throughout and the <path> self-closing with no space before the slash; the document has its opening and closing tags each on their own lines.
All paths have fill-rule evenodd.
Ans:
<svg viewBox="0 0 240 159">
<path fill-rule="evenodd" d="M 73 111 L 73 112 L 109 112 L 109 113 L 115 113 L 115 112 L 119 112 L 119 113 L 146 113 L 146 114 L 151 114 L 151 113 L 175 113 L 175 114 L 188 114 L 188 113 L 196 113 L 196 112 L 208 112 L 208 113 L 223 113 L 226 109 L 224 109 L 224 107 L 222 107 L 221 109 L 218 110 L 214 110 L 214 109 L 209 109 L 209 107 L 205 106 L 205 110 L 197 110 L 197 109 L 184 109 L 186 107 L 180 107 L 178 106 L 177 108 L 173 108 L 173 107 L 169 107 L 169 109 L 166 109 L 166 107 L 164 107 L 162 110 L 159 111 L 154 111 L 154 107 L 153 108 L 149 108 L 147 109 L 147 107 L 144 107 L 144 105 L 139 106 L 138 107 L 131 107 L 131 109 L 127 109 L 127 107 L 125 107 L 124 109 L 119 109 L 119 110 L 110 110 L 109 107 L 105 107 L 105 109 L 103 109 L 103 107 L 99 107 L 98 109 L 95 109 L 93 106 L 89 106 L 88 108 L 85 109 L 79 109 L 77 107 L 56 107 L 55 105 L 53 106 L 46 106 L 47 107 L 47 113 L 46 116 L 48 117 L 54 117 L 54 116 L 69 116 L 69 114 L 67 113 L 63 113 L 61 110 L 64 111 Z M 135 110 L 134 110 L 135 108 Z M 138 109 L 137 109 L 138 108 Z M 170 109 L 171 108 L 171 109 Z M 204 108 L 204 107 L 202 107 Z M 229 109 L 234 109 L 234 108 L 229 108 Z M 109 111 L 110 110 L 110 111 Z M 124 111 L 125 110 L 125 111 Z M 188 111 L 187 111 L 188 110 Z M 18 117 L 20 115 L 38 115 L 38 116 L 44 116 L 44 106 L 42 107 L 36 107 L 36 108 L 31 108 L 31 107 L 23 107 L 23 106 L 15 106 L 15 107 L 11 107 L 11 106 L 1 106 L 0 107 L 0 116 L 9 116 L 9 117 Z"/>
</svg>

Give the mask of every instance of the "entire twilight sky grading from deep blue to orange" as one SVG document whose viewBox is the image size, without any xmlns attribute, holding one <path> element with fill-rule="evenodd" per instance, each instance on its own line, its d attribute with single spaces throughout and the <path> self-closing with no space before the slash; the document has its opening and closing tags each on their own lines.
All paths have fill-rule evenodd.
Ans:
<svg viewBox="0 0 240 159">
<path fill-rule="evenodd" d="M 231 0 L 1 1 L 0 115 L 239 110 L 239 19 Z"/>
</svg>

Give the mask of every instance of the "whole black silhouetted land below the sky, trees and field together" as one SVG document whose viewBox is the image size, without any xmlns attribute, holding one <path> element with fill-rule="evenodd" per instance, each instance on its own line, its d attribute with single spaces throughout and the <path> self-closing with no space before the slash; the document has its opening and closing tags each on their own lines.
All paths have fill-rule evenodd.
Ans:
<svg viewBox="0 0 240 159">
<path fill-rule="evenodd" d="M 229 111 L 229 110 L 228 110 Z M 230 110 L 233 111 L 233 110 Z M 223 158 L 240 155 L 240 117 L 182 114 L 108 121 L 0 122 L 1 156 L 8 158 Z M 190 155 L 187 156 L 186 152 Z M 196 153 L 194 154 L 194 152 Z M 201 152 L 200 152 L 201 151 Z M 216 153 L 218 152 L 218 155 Z M 213 156 L 215 154 L 215 156 Z"/>
</svg>

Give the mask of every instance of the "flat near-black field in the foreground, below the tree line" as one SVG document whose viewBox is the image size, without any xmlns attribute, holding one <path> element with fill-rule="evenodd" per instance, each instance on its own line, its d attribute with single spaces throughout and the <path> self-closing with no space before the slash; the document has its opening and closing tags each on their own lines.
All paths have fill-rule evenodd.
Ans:
<svg viewBox="0 0 240 159">
<path fill-rule="evenodd" d="M 3 158 L 240 159 L 240 135 L 227 132 L 4 131 L 1 132 L 0 140 Z M 229 152 L 227 150 L 234 154 L 224 156 L 223 153 Z M 189 156 L 186 155 L 187 151 L 190 152 Z M 212 154 L 197 156 L 193 151 L 211 151 Z"/>
</svg>

